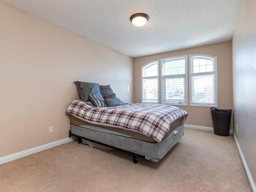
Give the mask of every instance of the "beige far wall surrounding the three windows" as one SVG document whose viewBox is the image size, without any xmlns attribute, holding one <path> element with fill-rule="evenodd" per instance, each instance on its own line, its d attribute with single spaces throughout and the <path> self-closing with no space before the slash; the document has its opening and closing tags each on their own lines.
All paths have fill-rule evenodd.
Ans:
<svg viewBox="0 0 256 192">
<path fill-rule="evenodd" d="M 232 109 L 232 48 L 231 41 L 191 49 L 160 53 L 134 59 L 134 102 L 141 102 L 141 66 L 160 58 L 206 54 L 218 56 L 218 105 L 220 109 Z M 212 127 L 210 108 L 180 106 L 188 112 L 186 124 Z M 232 123 L 231 123 L 232 126 Z"/>
</svg>

